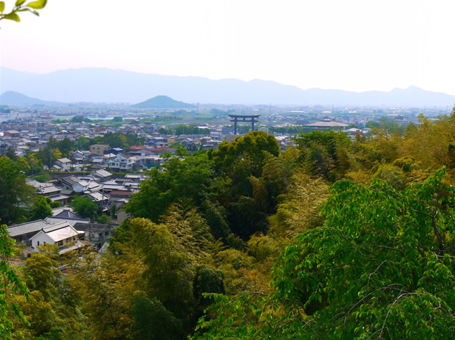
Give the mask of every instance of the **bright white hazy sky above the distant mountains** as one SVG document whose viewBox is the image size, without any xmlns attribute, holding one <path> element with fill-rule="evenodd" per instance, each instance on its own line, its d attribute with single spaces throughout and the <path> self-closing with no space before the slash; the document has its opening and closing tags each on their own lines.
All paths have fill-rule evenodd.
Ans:
<svg viewBox="0 0 455 340">
<path fill-rule="evenodd" d="M 2 66 L 455 95 L 451 0 L 48 0 L 40 13 L 0 22 Z"/>
</svg>

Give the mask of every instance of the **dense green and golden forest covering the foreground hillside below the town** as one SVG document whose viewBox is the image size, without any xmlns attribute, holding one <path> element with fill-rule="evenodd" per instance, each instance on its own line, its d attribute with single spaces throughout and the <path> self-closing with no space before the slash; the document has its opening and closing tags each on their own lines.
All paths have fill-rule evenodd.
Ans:
<svg viewBox="0 0 455 340">
<path fill-rule="evenodd" d="M 0 332 L 453 339 L 455 111 L 404 127 L 382 119 L 353 141 L 313 131 L 294 142 L 281 150 L 249 132 L 217 150 L 179 149 L 131 196 L 106 254 L 43 248 L 17 271 L 4 232 Z M 0 160 L 0 180 L 22 183 Z M 20 200 L 0 200 L 2 222 Z"/>
</svg>

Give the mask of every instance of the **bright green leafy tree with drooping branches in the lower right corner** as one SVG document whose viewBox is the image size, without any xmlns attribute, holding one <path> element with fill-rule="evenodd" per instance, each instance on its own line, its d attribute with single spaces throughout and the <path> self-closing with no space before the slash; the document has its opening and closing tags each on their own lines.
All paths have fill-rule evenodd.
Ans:
<svg viewBox="0 0 455 340">
<path fill-rule="evenodd" d="M 274 293 L 215 296 L 219 314 L 200 323 L 201 337 L 453 339 L 454 189 L 444 172 L 404 191 L 333 184 L 324 225 L 297 234 L 272 269 Z"/>
</svg>

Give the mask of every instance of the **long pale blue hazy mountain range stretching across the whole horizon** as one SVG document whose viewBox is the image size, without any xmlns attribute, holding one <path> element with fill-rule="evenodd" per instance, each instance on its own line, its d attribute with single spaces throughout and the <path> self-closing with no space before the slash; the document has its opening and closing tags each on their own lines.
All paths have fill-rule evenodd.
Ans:
<svg viewBox="0 0 455 340">
<path fill-rule="evenodd" d="M 0 93 L 20 92 L 66 103 L 138 103 L 159 95 L 187 103 L 328 105 L 328 106 L 453 106 L 455 96 L 418 87 L 390 92 L 348 92 L 299 89 L 265 80 L 210 80 L 134 73 L 108 68 L 59 70 L 45 75 L 0 68 Z"/>
</svg>

